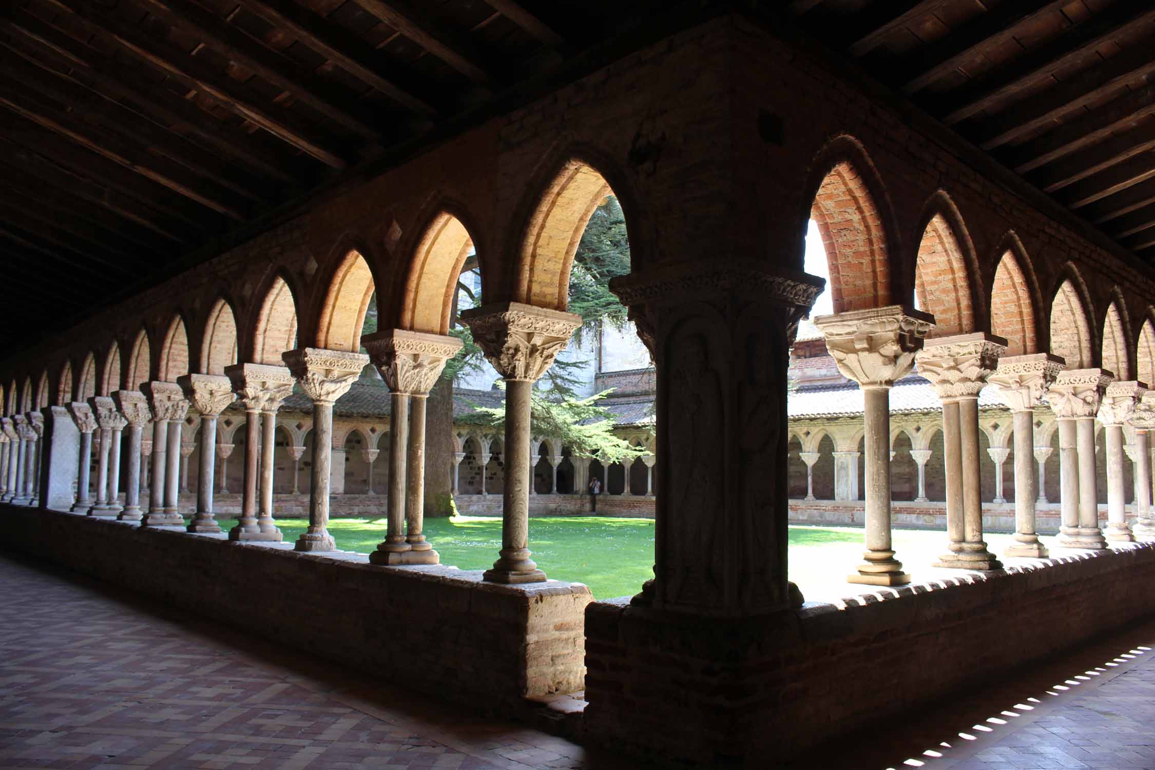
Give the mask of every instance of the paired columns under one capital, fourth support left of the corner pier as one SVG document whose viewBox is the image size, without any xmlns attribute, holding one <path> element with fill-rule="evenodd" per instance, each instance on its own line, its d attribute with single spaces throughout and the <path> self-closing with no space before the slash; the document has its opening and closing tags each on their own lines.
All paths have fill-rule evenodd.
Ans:
<svg viewBox="0 0 1155 770">
<path fill-rule="evenodd" d="M 284 534 L 273 516 L 274 443 L 277 410 L 292 394 L 293 376 L 283 366 L 267 364 L 233 364 L 224 367 L 224 373 L 237 401 L 245 408 L 246 420 L 245 495 L 240 517 L 229 531 L 229 539 L 280 543 Z"/>
</svg>

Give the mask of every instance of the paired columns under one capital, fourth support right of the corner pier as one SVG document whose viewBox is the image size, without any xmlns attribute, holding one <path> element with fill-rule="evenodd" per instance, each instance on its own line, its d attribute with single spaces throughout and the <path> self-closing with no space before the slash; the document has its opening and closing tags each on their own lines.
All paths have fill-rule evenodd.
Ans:
<svg viewBox="0 0 1155 770">
<path fill-rule="evenodd" d="M 1059 421 L 1059 545 L 1066 548 L 1106 547 L 1098 528 L 1095 416 L 1113 379 L 1105 369 L 1067 369 L 1048 391 Z"/>
</svg>

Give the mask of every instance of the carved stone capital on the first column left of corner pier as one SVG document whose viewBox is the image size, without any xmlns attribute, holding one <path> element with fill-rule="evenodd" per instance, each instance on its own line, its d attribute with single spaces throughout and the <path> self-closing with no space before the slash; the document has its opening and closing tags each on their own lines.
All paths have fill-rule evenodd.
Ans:
<svg viewBox="0 0 1155 770">
<path fill-rule="evenodd" d="M 461 320 L 502 377 L 528 382 L 536 382 L 553 366 L 581 326 L 581 317 L 573 313 L 521 302 L 476 307 L 462 313 Z"/>
</svg>

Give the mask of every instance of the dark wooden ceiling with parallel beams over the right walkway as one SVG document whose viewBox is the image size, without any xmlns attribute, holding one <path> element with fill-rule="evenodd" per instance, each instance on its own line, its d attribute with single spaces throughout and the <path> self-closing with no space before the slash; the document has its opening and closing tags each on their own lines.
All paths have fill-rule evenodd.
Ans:
<svg viewBox="0 0 1155 770">
<path fill-rule="evenodd" d="M 1150 0 L 792 0 L 849 57 L 1155 264 Z"/>
</svg>

